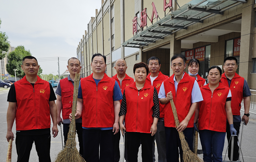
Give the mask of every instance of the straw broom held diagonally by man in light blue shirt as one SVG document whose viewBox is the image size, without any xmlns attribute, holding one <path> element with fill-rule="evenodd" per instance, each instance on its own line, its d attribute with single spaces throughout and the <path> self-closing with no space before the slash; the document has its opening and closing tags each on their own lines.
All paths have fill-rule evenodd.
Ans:
<svg viewBox="0 0 256 162">
<path fill-rule="evenodd" d="M 174 116 L 175 124 L 176 127 L 180 125 L 180 121 L 178 120 L 178 115 L 176 111 L 176 107 L 174 105 L 173 99 L 170 100 L 171 106 L 172 106 L 172 113 Z M 183 150 L 183 162 L 203 162 L 202 159 L 200 159 L 196 154 L 194 154 L 188 146 L 188 142 L 185 140 L 185 135 L 183 132 L 179 132 L 180 136 L 180 142 L 181 142 L 181 147 Z"/>
</svg>

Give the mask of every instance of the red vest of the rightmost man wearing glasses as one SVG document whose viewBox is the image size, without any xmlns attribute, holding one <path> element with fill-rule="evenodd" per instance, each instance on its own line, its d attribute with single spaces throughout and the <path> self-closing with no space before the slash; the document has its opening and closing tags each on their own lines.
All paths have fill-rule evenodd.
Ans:
<svg viewBox="0 0 256 162">
<path fill-rule="evenodd" d="M 228 80 L 225 73 L 221 75 L 221 83 L 224 86 L 228 87 Z M 240 115 L 241 102 L 243 100 L 243 87 L 244 87 L 244 78 L 235 73 L 235 76 L 232 78 L 230 83 L 230 91 L 232 95 L 231 99 L 231 109 L 233 115 Z"/>
</svg>

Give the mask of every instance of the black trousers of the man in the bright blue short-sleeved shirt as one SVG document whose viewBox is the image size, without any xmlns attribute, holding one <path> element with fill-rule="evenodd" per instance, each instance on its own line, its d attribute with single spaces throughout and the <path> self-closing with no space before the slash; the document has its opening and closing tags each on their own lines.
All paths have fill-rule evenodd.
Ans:
<svg viewBox="0 0 256 162">
<path fill-rule="evenodd" d="M 83 129 L 84 160 L 86 162 L 113 162 L 114 142 L 112 129 Z"/>
</svg>

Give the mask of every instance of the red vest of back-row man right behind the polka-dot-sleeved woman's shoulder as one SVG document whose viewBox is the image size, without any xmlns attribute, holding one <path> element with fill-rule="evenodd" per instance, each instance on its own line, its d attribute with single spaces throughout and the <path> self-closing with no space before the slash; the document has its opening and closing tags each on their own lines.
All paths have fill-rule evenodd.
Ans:
<svg viewBox="0 0 256 162">
<path fill-rule="evenodd" d="M 163 73 L 161 73 L 161 72 L 159 71 L 159 74 L 158 74 L 157 78 L 153 81 L 153 86 L 156 88 L 157 93 L 159 93 L 161 84 L 162 84 L 163 81 L 164 81 L 165 79 L 167 79 L 167 78 L 168 78 L 167 75 L 164 75 Z M 147 76 L 146 84 L 151 85 L 150 73 L 149 73 L 148 76 Z M 160 102 L 159 102 L 159 107 L 160 107 L 160 118 L 164 118 L 164 107 L 165 107 L 165 104 L 160 104 Z"/>
</svg>

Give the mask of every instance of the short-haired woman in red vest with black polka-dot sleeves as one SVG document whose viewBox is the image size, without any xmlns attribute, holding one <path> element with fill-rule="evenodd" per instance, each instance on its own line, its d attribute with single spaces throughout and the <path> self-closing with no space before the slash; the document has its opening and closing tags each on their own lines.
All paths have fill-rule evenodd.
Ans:
<svg viewBox="0 0 256 162">
<path fill-rule="evenodd" d="M 142 161 L 152 162 L 152 142 L 160 115 L 156 88 L 145 84 L 148 66 L 144 62 L 134 65 L 135 82 L 125 87 L 119 124 L 122 134 L 127 135 L 128 161 L 137 162 L 141 141 Z M 137 97 L 136 97 L 137 96 Z M 125 118 L 125 127 L 123 124 Z"/>
</svg>

